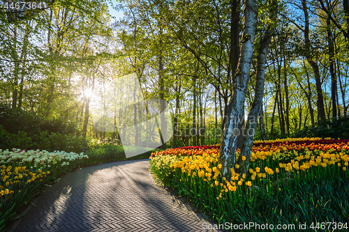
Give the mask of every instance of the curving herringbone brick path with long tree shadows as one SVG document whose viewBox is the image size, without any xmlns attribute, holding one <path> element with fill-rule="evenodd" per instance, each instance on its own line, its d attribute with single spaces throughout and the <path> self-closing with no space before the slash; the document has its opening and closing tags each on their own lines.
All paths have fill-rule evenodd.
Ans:
<svg viewBox="0 0 349 232">
<path fill-rule="evenodd" d="M 207 231 L 200 214 L 154 184 L 148 166 L 149 160 L 123 161 L 70 173 L 15 231 Z"/>
</svg>

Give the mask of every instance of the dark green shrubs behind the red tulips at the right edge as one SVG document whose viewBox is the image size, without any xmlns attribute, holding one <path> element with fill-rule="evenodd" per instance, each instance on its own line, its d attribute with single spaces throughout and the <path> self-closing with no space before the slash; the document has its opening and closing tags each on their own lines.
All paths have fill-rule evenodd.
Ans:
<svg viewBox="0 0 349 232">
<path fill-rule="evenodd" d="M 349 117 L 333 118 L 332 121 L 319 123 L 316 127 L 305 126 L 298 130 L 293 137 L 331 137 L 334 139 L 349 139 Z"/>
</svg>

